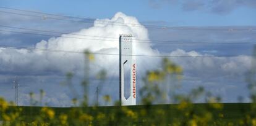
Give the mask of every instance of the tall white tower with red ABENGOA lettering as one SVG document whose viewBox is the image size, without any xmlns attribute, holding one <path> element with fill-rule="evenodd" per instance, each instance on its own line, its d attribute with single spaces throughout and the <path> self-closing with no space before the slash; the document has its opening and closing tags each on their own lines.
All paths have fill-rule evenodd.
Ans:
<svg viewBox="0 0 256 126">
<path fill-rule="evenodd" d="M 119 100 L 122 106 L 136 105 L 136 63 L 132 55 L 132 34 L 119 37 Z M 125 96 L 129 85 L 128 96 Z M 126 93 L 127 95 L 127 93 Z"/>
</svg>

